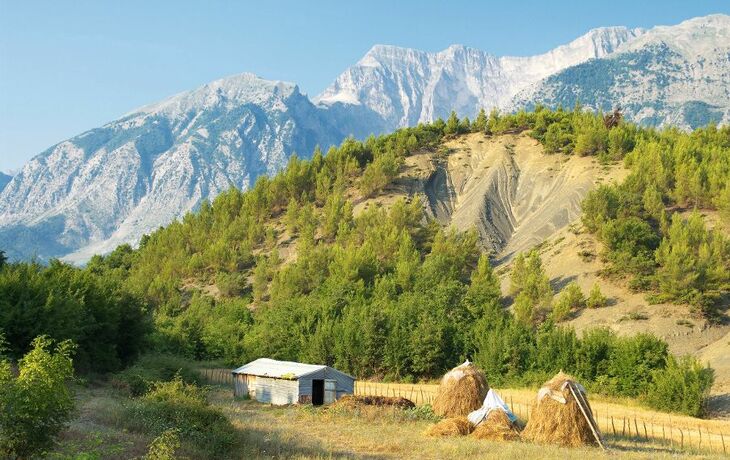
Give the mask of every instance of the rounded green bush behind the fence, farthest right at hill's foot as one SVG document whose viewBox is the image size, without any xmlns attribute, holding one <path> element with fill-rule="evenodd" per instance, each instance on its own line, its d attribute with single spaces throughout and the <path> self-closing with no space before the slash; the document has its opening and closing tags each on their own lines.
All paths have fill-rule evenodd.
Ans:
<svg viewBox="0 0 730 460">
<path fill-rule="evenodd" d="M 715 380 L 714 371 L 696 358 L 670 356 L 667 367 L 653 373 L 646 400 L 655 409 L 702 415 L 704 401 Z"/>
</svg>

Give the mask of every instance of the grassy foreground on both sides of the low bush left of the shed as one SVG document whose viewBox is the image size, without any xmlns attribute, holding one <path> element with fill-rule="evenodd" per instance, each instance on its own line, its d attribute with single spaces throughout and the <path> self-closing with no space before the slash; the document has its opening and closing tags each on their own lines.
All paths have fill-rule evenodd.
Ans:
<svg viewBox="0 0 730 460">
<path fill-rule="evenodd" d="M 109 386 L 79 388 L 79 411 L 51 458 L 129 459 L 146 452 L 151 437 L 120 428 L 127 401 Z M 434 439 L 423 432 L 432 423 L 412 412 L 368 408 L 343 410 L 311 406 L 274 407 L 234 399 L 227 387 L 209 395 L 233 423 L 239 447 L 233 458 L 708 458 L 706 451 L 661 442 L 608 439 L 609 450 L 563 449 L 528 443 L 492 443 L 469 437 Z M 195 458 L 185 450 L 182 456 Z M 721 454 L 715 454 L 720 458 Z"/>
</svg>

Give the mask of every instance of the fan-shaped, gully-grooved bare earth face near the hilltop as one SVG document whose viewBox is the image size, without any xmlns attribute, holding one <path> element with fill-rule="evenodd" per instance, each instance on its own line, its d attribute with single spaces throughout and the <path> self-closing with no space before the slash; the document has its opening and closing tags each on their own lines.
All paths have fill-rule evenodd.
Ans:
<svg viewBox="0 0 730 460">
<path fill-rule="evenodd" d="M 485 138 L 480 134 L 448 142 L 440 166 L 449 178 L 426 187 L 440 220 L 460 230 L 477 228 L 500 261 L 532 248 L 580 216 L 580 203 L 605 172 L 590 158 L 546 155 L 525 134 Z M 439 196 L 440 194 L 440 196 Z M 449 203 L 439 200 L 453 197 Z M 436 206 L 434 206 L 434 204 Z"/>
</svg>

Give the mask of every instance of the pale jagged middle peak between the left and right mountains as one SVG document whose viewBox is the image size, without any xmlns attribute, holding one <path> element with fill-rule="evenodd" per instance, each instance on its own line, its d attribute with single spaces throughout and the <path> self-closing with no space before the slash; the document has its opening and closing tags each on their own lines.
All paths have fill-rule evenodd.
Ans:
<svg viewBox="0 0 730 460">
<path fill-rule="evenodd" d="M 390 129 L 446 118 L 452 110 L 473 116 L 481 108 L 504 106 L 555 72 L 606 56 L 641 33 L 625 27 L 595 29 L 532 57 L 497 57 L 461 45 L 437 53 L 377 45 L 315 102 L 367 107 Z"/>
</svg>

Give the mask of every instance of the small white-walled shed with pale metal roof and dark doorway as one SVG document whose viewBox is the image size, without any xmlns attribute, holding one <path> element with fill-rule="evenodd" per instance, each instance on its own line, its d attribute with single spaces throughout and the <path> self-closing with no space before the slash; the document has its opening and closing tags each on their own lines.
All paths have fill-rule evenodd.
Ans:
<svg viewBox="0 0 730 460">
<path fill-rule="evenodd" d="M 270 404 L 329 404 L 352 394 L 355 378 L 329 366 L 259 358 L 233 370 L 233 394 Z"/>
</svg>

